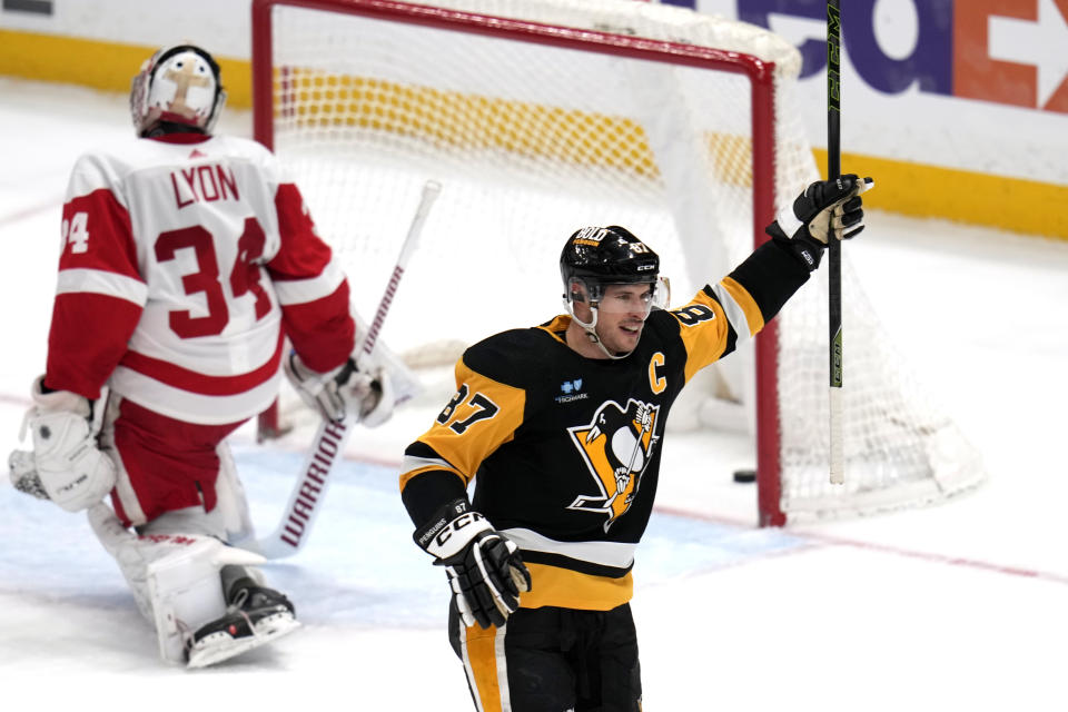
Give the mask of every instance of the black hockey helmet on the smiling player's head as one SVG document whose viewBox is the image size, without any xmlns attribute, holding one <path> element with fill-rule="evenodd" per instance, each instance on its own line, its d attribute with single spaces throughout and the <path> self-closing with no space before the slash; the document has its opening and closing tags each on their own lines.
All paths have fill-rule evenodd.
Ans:
<svg viewBox="0 0 1068 712">
<path fill-rule="evenodd" d="M 659 275 L 656 253 L 617 225 L 575 231 L 560 255 L 565 301 L 596 303 L 606 285 L 656 285 Z M 583 289 L 576 289 L 580 285 Z"/>
</svg>

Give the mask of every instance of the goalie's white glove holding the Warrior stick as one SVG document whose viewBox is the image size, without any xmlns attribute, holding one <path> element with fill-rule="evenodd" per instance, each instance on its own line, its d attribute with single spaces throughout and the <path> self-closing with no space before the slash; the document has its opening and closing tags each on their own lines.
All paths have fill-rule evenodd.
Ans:
<svg viewBox="0 0 1068 712">
<path fill-rule="evenodd" d="M 365 426 L 376 427 L 393 415 L 390 376 L 370 356 L 359 353 L 333 370 L 318 373 L 290 352 L 285 368 L 300 399 L 327 421 L 342 421 L 353 414 Z"/>
</svg>

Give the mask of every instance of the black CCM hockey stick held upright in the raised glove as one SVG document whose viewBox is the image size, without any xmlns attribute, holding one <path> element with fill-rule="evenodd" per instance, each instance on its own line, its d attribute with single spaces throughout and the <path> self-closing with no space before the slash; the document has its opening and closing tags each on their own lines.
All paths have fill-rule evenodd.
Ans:
<svg viewBox="0 0 1068 712">
<path fill-rule="evenodd" d="M 841 13 L 839 0 L 827 1 L 827 179 L 834 180 L 841 168 Z M 842 443 L 842 245 L 828 240 L 828 316 L 831 413 L 831 484 L 846 482 Z"/>
</svg>

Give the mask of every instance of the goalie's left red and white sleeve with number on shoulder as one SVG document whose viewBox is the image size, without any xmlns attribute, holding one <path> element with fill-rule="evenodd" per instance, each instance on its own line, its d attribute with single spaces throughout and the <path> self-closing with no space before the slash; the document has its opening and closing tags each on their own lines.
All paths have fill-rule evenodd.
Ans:
<svg viewBox="0 0 1068 712">
<path fill-rule="evenodd" d="M 98 398 L 147 298 L 120 179 L 100 157 L 83 156 L 63 204 L 46 385 Z"/>
</svg>

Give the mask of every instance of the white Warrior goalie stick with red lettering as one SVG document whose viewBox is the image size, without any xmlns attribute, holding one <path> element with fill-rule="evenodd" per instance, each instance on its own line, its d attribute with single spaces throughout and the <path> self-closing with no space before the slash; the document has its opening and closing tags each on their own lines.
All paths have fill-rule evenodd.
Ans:
<svg viewBox="0 0 1068 712">
<path fill-rule="evenodd" d="M 431 206 L 441 190 L 442 185 L 435 180 L 427 180 L 423 186 L 419 207 L 412 218 L 408 234 L 400 246 L 397 264 L 394 266 L 389 281 L 386 284 L 385 294 L 382 295 L 382 300 L 378 303 L 375 318 L 367 328 L 367 334 L 357 352 L 370 354 L 375 349 L 378 332 L 386 320 L 389 305 L 397 291 L 397 284 L 399 284 L 400 276 L 415 251 L 419 233 L 423 231 L 423 224 L 426 221 Z M 330 482 L 330 473 L 334 472 L 337 462 L 344 457 L 345 444 L 348 443 L 357 422 L 357 418 L 349 416 L 337 422 L 323 421 L 319 424 L 319 428 L 315 433 L 315 439 L 312 441 L 312 448 L 300 465 L 299 478 L 293 487 L 293 493 L 289 495 L 289 502 L 283 512 L 278 526 L 269 536 L 255 542 L 243 542 L 238 544 L 239 546 L 259 552 L 267 558 L 285 558 L 300 551 L 304 543 L 308 541 L 312 525 L 322 508 L 323 497 Z M 251 545 L 248 546 L 247 544 Z"/>
</svg>

